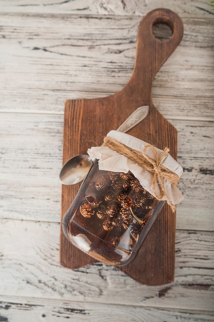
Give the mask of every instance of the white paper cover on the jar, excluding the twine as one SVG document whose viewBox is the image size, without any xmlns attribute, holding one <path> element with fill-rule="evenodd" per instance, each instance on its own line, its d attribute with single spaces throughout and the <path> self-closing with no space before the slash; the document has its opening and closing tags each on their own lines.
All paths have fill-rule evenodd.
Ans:
<svg viewBox="0 0 214 322">
<path fill-rule="evenodd" d="M 158 159 L 161 158 L 163 151 L 149 145 L 143 140 L 128 135 L 119 131 L 110 131 L 107 138 L 111 138 L 123 144 L 126 147 L 129 147 L 138 152 L 144 151 L 146 147 L 145 154 L 154 159 L 154 149 L 157 152 Z M 147 147 L 149 146 L 149 147 Z M 134 160 L 126 157 L 119 152 L 116 152 L 110 149 L 107 146 L 101 147 L 91 147 L 88 149 L 88 154 L 92 160 L 99 160 L 99 169 L 106 171 L 114 171 L 114 172 L 125 172 L 131 171 L 133 175 L 138 178 L 140 184 L 144 189 L 146 189 L 153 196 L 157 197 L 157 195 L 161 194 L 158 182 L 155 182 L 153 185 L 153 174 L 147 171 L 144 167 L 140 166 Z M 171 172 L 175 173 L 178 177 L 181 177 L 183 173 L 182 167 L 179 163 L 172 158 L 170 154 L 167 153 L 166 156 L 161 161 L 161 165 Z M 176 184 L 169 182 L 166 178 L 163 178 L 163 185 L 167 194 L 163 196 L 161 200 L 167 201 L 168 204 L 176 205 L 181 200 L 183 200 L 183 195 L 177 188 Z M 170 201 L 170 202 L 169 202 Z"/>
</svg>

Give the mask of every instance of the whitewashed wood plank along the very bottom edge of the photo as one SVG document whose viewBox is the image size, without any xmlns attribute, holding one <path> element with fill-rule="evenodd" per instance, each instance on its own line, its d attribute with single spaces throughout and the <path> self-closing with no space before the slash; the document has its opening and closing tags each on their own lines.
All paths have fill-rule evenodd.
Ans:
<svg viewBox="0 0 214 322">
<path fill-rule="evenodd" d="M 213 316 L 207 312 L 173 312 L 163 309 L 87 303 L 65 300 L 0 296 L 0 320 L 10 322 L 94 321 L 94 322 L 208 322 Z"/>
</svg>

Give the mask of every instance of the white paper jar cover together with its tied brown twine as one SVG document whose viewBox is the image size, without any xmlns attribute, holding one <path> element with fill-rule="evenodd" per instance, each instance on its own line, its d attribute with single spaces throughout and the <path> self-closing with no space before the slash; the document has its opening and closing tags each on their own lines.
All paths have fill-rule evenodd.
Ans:
<svg viewBox="0 0 214 322">
<path fill-rule="evenodd" d="M 114 172 L 132 172 L 141 186 L 159 201 L 167 201 L 172 211 L 183 200 L 177 184 L 183 169 L 169 154 L 143 140 L 110 131 L 101 147 L 91 147 L 88 154 L 99 160 L 99 169 Z"/>
</svg>

